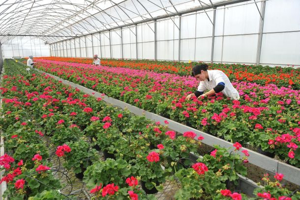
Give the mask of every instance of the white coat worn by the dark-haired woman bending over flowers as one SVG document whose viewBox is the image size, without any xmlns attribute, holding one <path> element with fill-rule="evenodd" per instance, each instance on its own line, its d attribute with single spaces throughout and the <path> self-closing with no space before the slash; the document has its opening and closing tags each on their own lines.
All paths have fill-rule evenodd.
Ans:
<svg viewBox="0 0 300 200">
<path fill-rule="evenodd" d="M 212 90 L 218 83 L 223 82 L 225 83 L 224 90 L 221 91 L 223 95 L 226 97 L 230 97 L 232 100 L 239 100 L 240 94 L 239 92 L 233 87 L 229 78 L 226 74 L 221 70 L 207 70 L 209 74 L 209 79 L 205 79 L 205 81 L 200 81 L 198 86 L 199 92 L 204 92 L 206 90 Z"/>
</svg>

